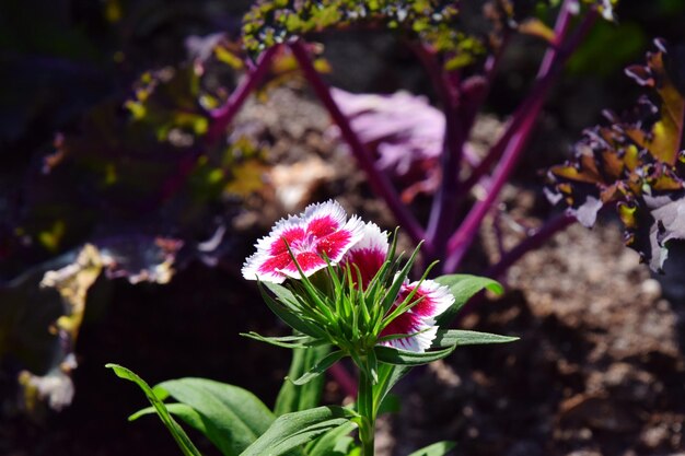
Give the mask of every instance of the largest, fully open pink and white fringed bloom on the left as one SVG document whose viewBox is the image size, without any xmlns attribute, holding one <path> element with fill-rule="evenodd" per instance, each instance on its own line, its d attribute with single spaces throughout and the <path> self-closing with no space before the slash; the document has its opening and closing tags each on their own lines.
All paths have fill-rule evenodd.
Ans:
<svg viewBox="0 0 685 456">
<path fill-rule="evenodd" d="M 361 239 L 363 229 L 359 218 L 347 220 L 336 201 L 310 204 L 300 215 L 281 219 L 257 242 L 257 252 L 243 265 L 243 277 L 282 283 L 289 277 L 300 278 L 298 265 L 309 277 L 326 267 L 326 258 L 332 265 L 338 264 Z"/>
</svg>

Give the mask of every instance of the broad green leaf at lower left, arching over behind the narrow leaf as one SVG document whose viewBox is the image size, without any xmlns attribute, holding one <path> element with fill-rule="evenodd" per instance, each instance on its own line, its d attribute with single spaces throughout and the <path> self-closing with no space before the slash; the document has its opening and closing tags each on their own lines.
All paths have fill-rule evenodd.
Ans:
<svg viewBox="0 0 685 456">
<path fill-rule="evenodd" d="M 207 437 L 224 456 L 237 456 L 264 434 L 275 419 L 255 395 L 237 386 L 206 378 L 181 378 L 163 382 L 158 387 L 202 417 Z"/>
</svg>

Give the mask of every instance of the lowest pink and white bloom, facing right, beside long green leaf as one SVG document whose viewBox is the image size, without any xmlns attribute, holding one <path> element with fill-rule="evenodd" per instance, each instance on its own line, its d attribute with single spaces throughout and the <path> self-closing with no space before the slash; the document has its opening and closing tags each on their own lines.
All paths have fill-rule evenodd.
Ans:
<svg viewBox="0 0 685 456">
<path fill-rule="evenodd" d="M 454 304 L 454 296 L 446 287 L 432 280 L 423 280 L 420 284 L 419 282 L 404 283 L 390 312 L 397 308 L 415 289 L 417 290 L 413 302 L 416 304 L 398 315 L 381 331 L 381 337 L 407 336 L 385 340 L 381 344 L 418 353 L 423 353 L 430 348 L 438 334 L 436 318 Z"/>
</svg>

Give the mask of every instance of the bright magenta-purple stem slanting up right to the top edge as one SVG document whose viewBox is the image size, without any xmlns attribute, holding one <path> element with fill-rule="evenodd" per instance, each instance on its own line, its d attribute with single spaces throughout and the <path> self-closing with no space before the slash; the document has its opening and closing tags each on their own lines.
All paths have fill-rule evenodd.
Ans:
<svg viewBox="0 0 685 456">
<path fill-rule="evenodd" d="M 558 40 L 562 40 L 568 31 L 571 19 L 571 2 L 572 0 L 566 0 L 561 7 L 561 11 L 559 12 L 559 17 L 557 19 L 557 24 L 555 26 L 555 33 Z M 521 156 L 521 153 L 530 138 L 530 133 L 533 130 L 533 126 L 535 125 L 535 119 L 537 118 L 537 115 L 542 109 L 543 102 L 549 91 L 549 87 L 552 86 L 552 82 L 556 79 L 556 77 L 558 77 L 562 63 L 590 31 L 595 17 L 596 12 L 590 11 L 585 15 L 582 24 L 577 28 L 571 39 L 569 39 L 565 46 L 555 46 L 547 49 L 547 52 L 541 63 L 537 79 L 538 82 L 522 106 L 522 108 L 525 109 L 519 109 L 516 112 L 514 119 L 509 125 L 507 131 L 502 135 L 502 138 L 507 139 L 506 142 L 500 140 L 492 148 L 496 149 L 499 144 L 506 144 L 501 161 L 492 173 L 491 185 L 487 189 L 488 191 L 486 198 L 474 204 L 457 232 L 454 233 L 448 243 L 449 254 L 443 265 L 444 272 L 451 272 L 458 268 L 467 248 L 473 243 L 483 219 L 499 196 L 507 178 Z M 492 151 L 490 153 L 492 153 Z"/>
</svg>

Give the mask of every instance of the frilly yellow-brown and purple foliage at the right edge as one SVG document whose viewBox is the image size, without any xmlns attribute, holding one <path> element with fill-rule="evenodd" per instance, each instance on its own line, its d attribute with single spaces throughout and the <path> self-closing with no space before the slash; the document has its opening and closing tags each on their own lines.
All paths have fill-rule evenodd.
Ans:
<svg viewBox="0 0 685 456">
<path fill-rule="evenodd" d="M 655 43 L 647 65 L 630 67 L 627 74 L 653 89 L 661 106 L 643 97 L 623 118 L 607 113 L 611 125 L 587 130 L 573 160 L 552 167 L 549 177 L 553 199 L 564 199 L 585 226 L 602 207 L 616 204 L 626 244 L 661 270 L 669 243 L 685 238 L 685 87 L 676 51 Z"/>
</svg>

